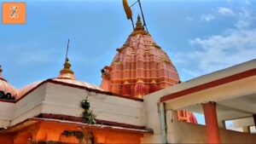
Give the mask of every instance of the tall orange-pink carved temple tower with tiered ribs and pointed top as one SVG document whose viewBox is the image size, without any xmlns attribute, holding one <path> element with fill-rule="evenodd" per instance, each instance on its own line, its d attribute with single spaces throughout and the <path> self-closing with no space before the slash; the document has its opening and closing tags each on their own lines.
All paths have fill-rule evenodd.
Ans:
<svg viewBox="0 0 256 144">
<path fill-rule="evenodd" d="M 175 66 L 144 30 L 140 16 L 136 28 L 117 51 L 111 65 L 102 69 L 102 89 L 141 98 L 179 82 Z"/>
</svg>

